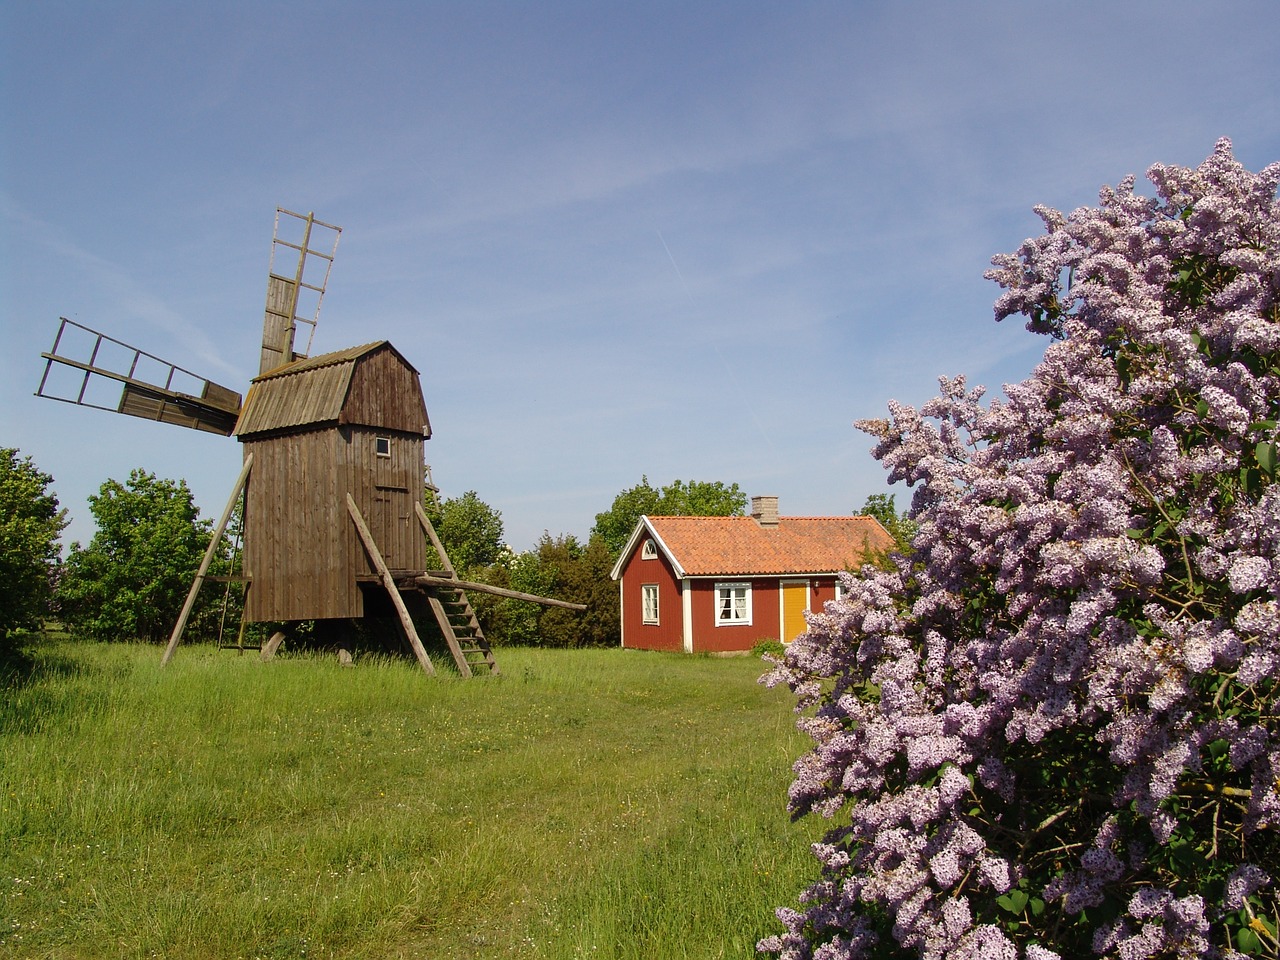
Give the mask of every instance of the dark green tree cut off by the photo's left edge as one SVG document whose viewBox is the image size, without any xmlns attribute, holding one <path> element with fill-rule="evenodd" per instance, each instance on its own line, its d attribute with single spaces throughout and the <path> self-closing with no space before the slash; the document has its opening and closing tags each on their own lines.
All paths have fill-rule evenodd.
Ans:
<svg viewBox="0 0 1280 960">
<path fill-rule="evenodd" d="M 49 613 L 67 526 L 67 511 L 49 490 L 52 481 L 31 457 L 0 449 L 0 655 L 15 631 L 38 627 Z"/>
</svg>

